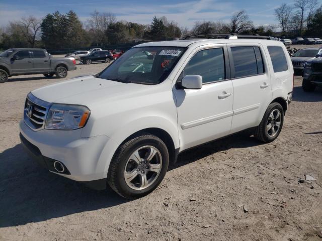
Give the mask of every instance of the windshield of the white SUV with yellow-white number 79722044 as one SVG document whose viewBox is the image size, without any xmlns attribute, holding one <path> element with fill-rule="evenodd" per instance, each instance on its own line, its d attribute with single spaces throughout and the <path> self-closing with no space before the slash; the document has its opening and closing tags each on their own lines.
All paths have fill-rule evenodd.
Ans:
<svg viewBox="0 0 322 241">
<path fill-rule="evenodd" d="M 185 48 L 137 47 L 125 52 L 96 77 L 124 83 L 158 84 L 164 81 Z"/>
</svg>

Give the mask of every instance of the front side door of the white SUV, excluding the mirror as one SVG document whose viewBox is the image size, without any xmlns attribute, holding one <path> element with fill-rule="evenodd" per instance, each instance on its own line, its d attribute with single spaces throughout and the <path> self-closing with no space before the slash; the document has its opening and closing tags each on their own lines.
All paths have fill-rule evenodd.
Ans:
<svg viewBox="0 0 322 241">
<path fill-rule="evenodd" d="M 185 65 L 185 75 L 202 76 L 201 89 L 177 89 L 178 130 L 181 149 L 226 136 L 232 118 L 232 82 L 226 46 L 196 49 Z"/>
</svg>

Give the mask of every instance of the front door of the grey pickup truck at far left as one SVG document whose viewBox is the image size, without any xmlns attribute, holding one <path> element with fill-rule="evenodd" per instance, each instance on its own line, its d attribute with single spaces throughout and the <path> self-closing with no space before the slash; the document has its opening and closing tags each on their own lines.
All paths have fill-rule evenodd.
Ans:
<svg viewBox="0 0 322 241">
<path fill-rule="evenodd" d="M 13 74 L 28 74 L 34 72 L 33 58 L 29 50 L 19 50 L 13 56 L 17 59 L 10 60 Z"/>
</svg>

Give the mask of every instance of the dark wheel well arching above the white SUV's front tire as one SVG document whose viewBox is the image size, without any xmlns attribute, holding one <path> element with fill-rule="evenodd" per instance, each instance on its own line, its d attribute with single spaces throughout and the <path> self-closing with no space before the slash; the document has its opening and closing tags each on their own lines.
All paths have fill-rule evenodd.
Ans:
<svg viewBox="0 0 322 241">
<path fill-rule="evenodd" d="M 159 128 L 147 128 L 147 129 L 143 129 L 140 130 L 136 133 L 133 133 L 131 136 L 129 136 L 128 138 L 126 138 L 120 146 L 122 146 L 125 142 L 131 140 L 134 137 L 140 136 L 140 135 L 144 135 L 144 134 L 151 134 L 153 136 L 156 136 L 158 138 L 160 138 L 167 146 L 168 151 L 169 151 L 169 160 L 170 162 L 175 162 L 176 161 L 176 149 L 175 149 L 175 144 L 171 138 L 171 136 L 169 135 L 169 133 L 167 133 L 165 130 L 163 129 L 159 129 Z"/>
</svg>

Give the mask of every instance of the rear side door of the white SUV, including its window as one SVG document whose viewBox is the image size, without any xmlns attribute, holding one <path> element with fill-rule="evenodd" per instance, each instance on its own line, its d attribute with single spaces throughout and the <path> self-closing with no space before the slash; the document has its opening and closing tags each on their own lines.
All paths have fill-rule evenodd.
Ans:
<svg viewBox="0 0 322 241">
<path fill-rule="evenodd" d="M 272 99 L 271 76 L 259 44 L 228 44 L 233 85 L 231 132 L 259 125 Z"/>
</svg>

